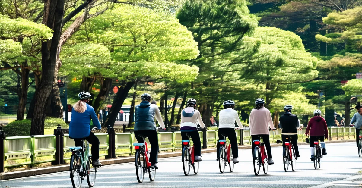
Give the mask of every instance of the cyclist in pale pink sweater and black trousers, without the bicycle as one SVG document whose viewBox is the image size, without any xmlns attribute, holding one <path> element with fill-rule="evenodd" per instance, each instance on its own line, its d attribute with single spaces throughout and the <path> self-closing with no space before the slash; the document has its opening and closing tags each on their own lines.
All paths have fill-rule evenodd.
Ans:
<svg viewBox="0 0 362 188">
<path fill-rule="evenodd" d="M 262 136 L 266 152 L 268 153 L 268 164 L 274 165 L 271 156 L 271 147 L 269 141 L 269 129 L 274 129 L 273 119 L 271 118 L 270 111 L 264 107 L 264 99 L 258 98 L 255 101 L 255 108 L 250 112 L 249 127 L 251 140 L 258 140 L 258 136 Z M 256 145 L 252 142 L 252 151 Z"/>
</svg>

